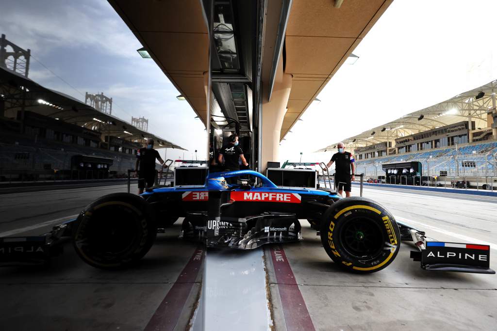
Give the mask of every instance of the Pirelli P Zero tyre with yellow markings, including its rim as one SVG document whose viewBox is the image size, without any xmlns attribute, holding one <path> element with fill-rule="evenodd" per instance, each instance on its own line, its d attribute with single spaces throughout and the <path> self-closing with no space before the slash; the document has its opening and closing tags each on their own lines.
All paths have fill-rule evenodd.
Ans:
<svg viewBox="0 0 497 331">
<path fill-rule="evenodd" d="M 336 264 L 356 273 L 376 272 L 394 261 L 400 231 L 390 212 L 371 199 L 333 203 L 323 215 L 321 241 Z"/>
</svg>

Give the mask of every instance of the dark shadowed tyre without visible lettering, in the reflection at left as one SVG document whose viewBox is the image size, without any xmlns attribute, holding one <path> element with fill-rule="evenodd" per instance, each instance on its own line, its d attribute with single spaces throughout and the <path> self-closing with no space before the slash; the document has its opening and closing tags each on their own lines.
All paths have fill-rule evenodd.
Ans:
<svg viewBox="0 0 497 331">
<path fill-rule="evenodd" d="M 152 247 L 157 224 L 141 197 L 115 193 L 83 210 L 73 232 L 73 245 L 89 265 L 114 269 L 133 265 Z"/>
</svg>

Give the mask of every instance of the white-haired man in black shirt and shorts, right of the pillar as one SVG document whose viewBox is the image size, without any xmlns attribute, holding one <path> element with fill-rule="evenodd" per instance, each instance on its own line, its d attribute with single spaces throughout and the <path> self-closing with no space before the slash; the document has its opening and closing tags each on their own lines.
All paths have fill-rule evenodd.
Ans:
<svg viewBox="0 0 497 331">
<path fill-rule="evenodd" d="M 345 196 L 348 198 L 350 197 L 350 191 L 352 189 L 351 181 L 355 180 L 355 160 L 351 153 L 345 151 L 343 142 L 339 142 L 336 147 L 338 148 L 338 153 L 334 153 L 333 156 L 331 156 L 331 160 L 326 166 L 330 168 L 331 165 L 336 162 L 335 187 L 340 195 L 342 194 L 342 190 L 344 190 Z M 352 168 L 352 174 L 350 174 L 350 168 Z"/>
</svg>

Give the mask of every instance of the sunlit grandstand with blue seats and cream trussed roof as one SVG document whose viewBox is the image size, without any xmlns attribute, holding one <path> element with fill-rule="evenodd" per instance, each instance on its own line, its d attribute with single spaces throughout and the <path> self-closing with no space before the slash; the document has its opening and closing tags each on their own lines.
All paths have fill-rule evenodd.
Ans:
<svg viewBox="0 0 497 331">
<path fill-rule="evenodd" d="M 345 148 L 355 155 L 356 172 L 390 183 L 388 164 L 417 161 L 422 165 L 421 185 L 429 185 L 433 178 L 447 186 L 466 179 L 475 187 L 495 182 L 496 92 L 494 80 L 344 139 Z M 336 144 L 319 152 L 335 150 Z M 392 175 L 392 182 L 401 183 L 400 172 Z"/>
</svg>

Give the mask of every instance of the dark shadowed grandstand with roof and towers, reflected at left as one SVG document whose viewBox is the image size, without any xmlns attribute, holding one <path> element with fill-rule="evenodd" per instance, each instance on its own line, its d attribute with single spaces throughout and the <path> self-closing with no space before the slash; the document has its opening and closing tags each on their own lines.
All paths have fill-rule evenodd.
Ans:
<svg viewBox="0 0 497 331">
<path fill-rule="evenodd" d="M 19 71 L 9 65 L 17 63 L 11 57 L 29 59 L 29 50 L 2 40 L 0 182 L 124 177 L 147 138 L 155 140 L 155 148 L 184 149 L 39 85 L 28 78 L 28 66 Z"/>
</svg>

